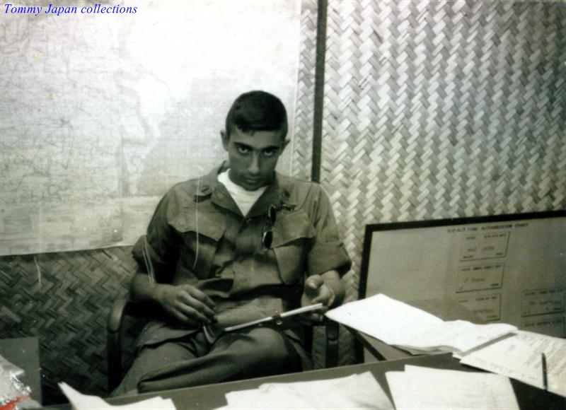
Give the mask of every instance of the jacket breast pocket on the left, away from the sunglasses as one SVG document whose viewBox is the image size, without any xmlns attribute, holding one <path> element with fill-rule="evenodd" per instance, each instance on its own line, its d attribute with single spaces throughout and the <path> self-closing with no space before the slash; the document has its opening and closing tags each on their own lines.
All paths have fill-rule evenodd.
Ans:
<svg viewBox="0 0 566 410">
<path fill-rule="evenodd" d="M 214 276 L 214 255 L 226 231 L 216 218 L 217 215 L 204 212 L 199 213 L 198 219 L 194 213 L 180 213 L 169 222 L 183 239 L 179 256 L 183 271 L 191 271 L 198 279 Z"/>
</svg>

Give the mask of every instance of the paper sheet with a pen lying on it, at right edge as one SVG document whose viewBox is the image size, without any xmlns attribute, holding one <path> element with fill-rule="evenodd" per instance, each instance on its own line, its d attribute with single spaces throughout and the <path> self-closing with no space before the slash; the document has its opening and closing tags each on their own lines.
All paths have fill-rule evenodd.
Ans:
<svg viewBox="0 0 566 410">
<path fill-rule="evenodd" d="M 566 397 L 566 339 L 516 331 L 464 355 L 461 363 L 543 388 L 541 353 L 547 361 L 548 390 Z"/>
</svg>

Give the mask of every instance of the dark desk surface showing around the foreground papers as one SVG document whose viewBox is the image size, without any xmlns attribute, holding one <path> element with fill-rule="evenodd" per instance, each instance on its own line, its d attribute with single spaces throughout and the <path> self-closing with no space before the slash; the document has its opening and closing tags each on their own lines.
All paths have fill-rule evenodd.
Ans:
<svg viewBox="0 0 566 410">
<path fill-rule="evenodd" d="M 139 394 L 134 397 L 115 397 L 108 399 L 110 404 L 129 404 L 138 402 L 141 399 L 161 396 L 170 398 L 175 403 L 178 410 L 184 409 L 215 409 L 226 405 L 224 395 L 243 389 L 255 389 L 267 382 L 304 382 L 308 380 L 325 380 L 335 377 L 344 377 L 355 373 L 371 372 L 385 392 L 391 398 L 385 373 L 389 370 L 403 370 L 405 364 L 422 365 L 431 368 L 478 371 L 477 369 L 461 365 L 458 360 L 450 354 L 415 356 L 404 358 L 397 361 L 383 361 L 377 363 L 364 363 L 361 365 L 350 365 L 342 368 L 330 368 L 324 370 L 313 370 L 310 372 L 292 373 L 271 377 L 260 377 L 257 379 L 241 380 L 238 382 L 219 383 L 217 385 L 207 385 L 201 387 L 188 387 L 185 389 L 168 390 L 165 392 Z M 564 410 L 566 399 L 556 394 L 544 392 L 541 389 L 525 385 L 524 383 L 512 380 L 512 385 L 521 409 L 557 409 Z M 69 405 L 52 406 L 50 409 L 70 409 Z"/>
</svg>

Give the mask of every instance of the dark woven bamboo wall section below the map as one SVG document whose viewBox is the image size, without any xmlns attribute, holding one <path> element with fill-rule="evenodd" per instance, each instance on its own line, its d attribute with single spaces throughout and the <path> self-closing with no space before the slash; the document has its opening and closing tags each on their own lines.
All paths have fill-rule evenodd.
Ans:
<svg viewBox="0 0 566 410">
<path fill-rule="evenodd" d="M 106 394 L 106 319 L 131 279 L 130 250 L 0 257 L 0 334 L 39 336 L 43 404 L 66 402 L 61 381 Z"/>
</svg>

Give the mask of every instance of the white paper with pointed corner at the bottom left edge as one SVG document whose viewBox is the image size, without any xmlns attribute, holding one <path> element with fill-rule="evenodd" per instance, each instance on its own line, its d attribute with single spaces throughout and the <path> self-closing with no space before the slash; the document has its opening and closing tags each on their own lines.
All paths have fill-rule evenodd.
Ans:
<svg viewBox="0 0 566 410">
<path fill-rule="evenodd" d="M 59 387 L 76 410 L 175 410 L 175 404 L 171 399 L 161 397 L 153 397 L 133 404 L 112 406 L 98 396 L 88 396 L 77 392 L 65 382 L 59 383 Z"/>
</svg>

